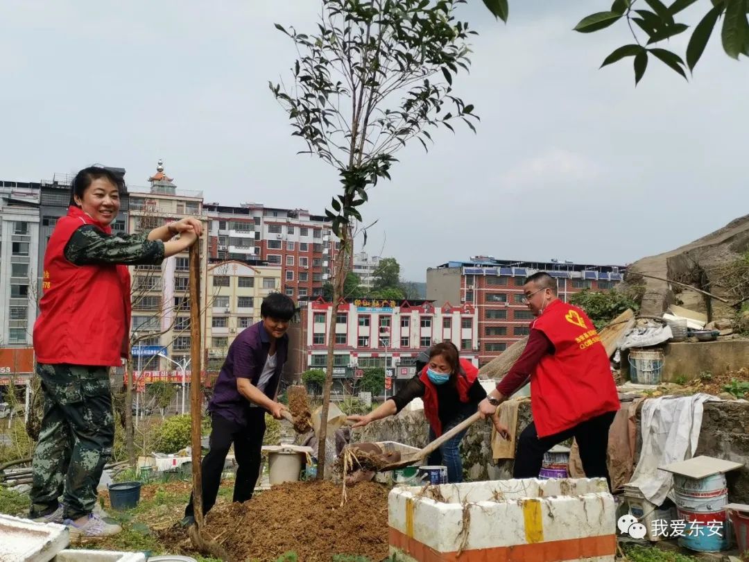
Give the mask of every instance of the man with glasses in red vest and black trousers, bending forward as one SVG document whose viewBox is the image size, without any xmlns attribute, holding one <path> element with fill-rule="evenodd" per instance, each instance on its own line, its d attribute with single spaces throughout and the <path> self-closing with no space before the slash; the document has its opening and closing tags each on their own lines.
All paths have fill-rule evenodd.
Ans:
<svg viewBox="0 0 749 562">
<path fill-rule="evenodd" d="M 530 378 L 533 423 L 518 438 L 512 476 L 538 477 L 545 453 L 574 437 L 586 476 L 609 480 L 608 432 L 619 410 L 619 394 L 601 338 L 585 312 L 557 297 L 551 275 L 533 274 L 523 291 L 524 303 L 536 316 L 527 345 L 479 411 L 491 416 Z M 502 426 L 497 430 L 506 432 Z"/>
</svg>

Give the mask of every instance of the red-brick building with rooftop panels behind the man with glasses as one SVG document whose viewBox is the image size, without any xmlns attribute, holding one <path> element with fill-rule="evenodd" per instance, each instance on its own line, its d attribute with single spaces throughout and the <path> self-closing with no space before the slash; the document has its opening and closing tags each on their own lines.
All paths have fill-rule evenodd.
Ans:
<svg viewBox="0 0 749 562">
<path fill-rule="evenodd" d="M 621 282 L 625 268 L 565 261 L 518 262 L 476 256 L 427 270 L 427 297 L 440 303 L 469 304 L 476 310 L 479 365 L 498 357 L 530 333 L 533 315 L 521 301 L 526 277 L 546 271 L 557 280 L 565 302 L 583 289 L 607 290 Z"/>
</svg>

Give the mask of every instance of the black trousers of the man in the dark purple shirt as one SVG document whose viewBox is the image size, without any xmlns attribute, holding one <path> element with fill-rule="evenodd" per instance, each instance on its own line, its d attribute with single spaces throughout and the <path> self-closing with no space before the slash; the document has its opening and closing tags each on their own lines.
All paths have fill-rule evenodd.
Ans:
<svg viewBox="0 0 749 562">
<path fill-rule="evenodd" d="M 242 426 L 216 413 L 210 417 L 210 450 L 201 462 L 203 515 L 208 513 L 213 504 L 216 504 L 216 495 L 221 485 L 221 473 L 232 443 L 234 443 L 234 459 L 237 460 L 237 477 L 234 480 L 232 501 L 243 502 L 252 498 L 252 492 L 260 476 L 260 455 L 265 435 L 265 410 L 248 408 L 246 419 L 246 426 Z M 192 494 L 190 494 L 185 516 L 194 514 Z"/>
</svg>

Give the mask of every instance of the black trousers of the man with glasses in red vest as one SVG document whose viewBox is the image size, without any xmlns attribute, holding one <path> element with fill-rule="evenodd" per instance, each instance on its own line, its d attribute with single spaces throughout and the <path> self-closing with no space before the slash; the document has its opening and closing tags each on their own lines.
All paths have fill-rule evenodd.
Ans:
<svg viewBox="0 0 749 562">
<path fill-rule="evenodd" d="M 518 438 L 518 454 L 515 456 L 515 468 L 512 471 L 513 478 L 538 478 L 541 467 L 544 464 L 544 454 L 574 437 L 577 447 L 580 449 L 580 460 L 583 462 L 583 470 L 588 478 L 605 478 L 609 489 L 611 480 L 606 465 L 606 453 L 608 449 L 608 432 L 616 412 L 610 411 L 600 416 L 578 423 L 570 429 L 539 438 L 536 433 L 536 424 L 531 423 L 520 434 Z"/>
</svg>

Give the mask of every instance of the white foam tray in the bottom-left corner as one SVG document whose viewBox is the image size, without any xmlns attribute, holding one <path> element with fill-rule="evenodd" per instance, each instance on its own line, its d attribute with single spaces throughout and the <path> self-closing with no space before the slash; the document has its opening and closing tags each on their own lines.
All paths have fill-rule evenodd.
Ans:
<svg viewBox="0 0 749 562">
<path fill-rule="evenodd" d="M 0 514 L 0 562 L 47 562 L 68 543 L 64 525 Z"/>
</svg>

